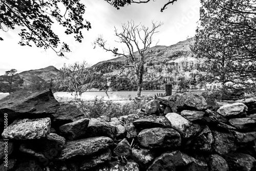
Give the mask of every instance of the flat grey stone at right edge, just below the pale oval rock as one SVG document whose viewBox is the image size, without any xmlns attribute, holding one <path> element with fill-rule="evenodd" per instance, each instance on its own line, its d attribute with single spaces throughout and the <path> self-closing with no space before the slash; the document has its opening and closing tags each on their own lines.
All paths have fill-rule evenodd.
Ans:
<svg viewBox="0 0 256 171">
<path fill-rule="evenodd" d="M 238 130 L 255 131 L 256 118 L 232 118 L 228 122 Z"/>
</svg>

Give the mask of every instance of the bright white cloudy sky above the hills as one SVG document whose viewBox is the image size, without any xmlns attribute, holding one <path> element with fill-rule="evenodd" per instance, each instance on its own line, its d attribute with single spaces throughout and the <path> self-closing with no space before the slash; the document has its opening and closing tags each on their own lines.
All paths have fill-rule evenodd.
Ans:
<svg viewBox="0 0 256 171">
<path fill-rule="evenodd" d="M 195 36 L 200 0 L 179 0 L 160 12 L 165 2 L 167 1 L 156 0 L 146 4 L 132 4 L 117 10 L 103 0 L 82 0 L 86 5 L 84 19 L 91 23 L 92 29 L 82 31 L 84 39 L 81 43 L 76 42 L 73 36 L 66 35 L 65 29 L 57 25 L 53 27 L 61 41 L 67 42 L 70 46 L 72 52 L 67 54 L 67 58 L 57 56 L 51 49 L 45 51 L 35 46 L 18 45 L 18 29 L 7 32 L 0 30 L 0 35 L 4 38 L 4 41 L 0 41 L 0 75 L 11 69 L 16 69 L 17 73 L 48 66 L 60 69 L 64 63 L 68 65 L 85 60 L 94 65 L 115 58 L 111 52 L 105 52 L 99 47 L 94 49 L 92 43 L 102 35 L 108 40 L 109 47 L 123 48 L 114 41 L 114 27 L 121 30 L 121 24 L 130 20 L 147 27 L 152 26 L 152 21 L 163 23 L 158 29 L 159 32 L 154 35 L 153 45 L 158 42 L 157 45 L 170 46 Z"/>
</svg>

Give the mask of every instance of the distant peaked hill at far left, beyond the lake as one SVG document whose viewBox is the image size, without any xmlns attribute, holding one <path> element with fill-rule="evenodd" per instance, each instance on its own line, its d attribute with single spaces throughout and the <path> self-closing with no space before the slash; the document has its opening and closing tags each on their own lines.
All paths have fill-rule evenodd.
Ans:
<svg viewBox="0 0 256 171">
<path fill-rule="evenodd" d="M 44 88 L 47 82 L 56 77 L 60 71 L 53 66 L 38 70 L 24 71 L 13 75 L 12 84 L 9 82 L 11 76 L 0 76 L 0 92 L 13 92 L 26 86 L 33 88 Z M 12 90 L 10 90 L 12 89 Z"/>
</svg>

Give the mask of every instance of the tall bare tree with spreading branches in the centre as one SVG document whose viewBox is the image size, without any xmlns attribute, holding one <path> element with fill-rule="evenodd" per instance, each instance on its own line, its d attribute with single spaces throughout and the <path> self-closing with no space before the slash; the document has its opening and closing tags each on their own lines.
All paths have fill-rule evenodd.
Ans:
<svg viewBox="0 0 256 171">
<path fill-rule="evenodd" d="M 137 96 L 141 95 L 146 55 L 153 52 L 150 49 L 153 42 L 153 35 L 158 32 L 157 29 L 161 25 L 161 22 L 152 22 L 152 28 L 148 28 L 141 24 L 135 25 L 131 21 L 127 22 L 127 24 L 122 24 L 122 32 L 118 32 L 115 28 L 115 36 L 118 37 L 117 42 L 124 44 L 127 52 L 123 50 L 122 53 L 119 53 L 118 48 L 107 48 L 106 41 L 102 36 L 99 36 L 94 42 L 95 45 L 112 52 L 115 56 L 124 56 L 127 59 L 128 65 L 124 66 L 124 68 L 132 68 L 137 77 Z M 135 53 L 135 50 L 138 52 Z"/>
</svg>

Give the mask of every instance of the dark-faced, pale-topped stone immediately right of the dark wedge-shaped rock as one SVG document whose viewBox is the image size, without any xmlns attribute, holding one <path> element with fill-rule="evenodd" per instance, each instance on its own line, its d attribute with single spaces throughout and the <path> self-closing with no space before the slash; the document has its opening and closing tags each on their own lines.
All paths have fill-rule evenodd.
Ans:
<svg viewBox="0 0 256 171">
<path fill-rule="evenodd" d="M 88 137 L 105 136 L 114 139 L 116 127 L 109 122 L 102 122 L 92 118 L 90 119 L 86 134 Z"/>
</svg>

